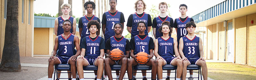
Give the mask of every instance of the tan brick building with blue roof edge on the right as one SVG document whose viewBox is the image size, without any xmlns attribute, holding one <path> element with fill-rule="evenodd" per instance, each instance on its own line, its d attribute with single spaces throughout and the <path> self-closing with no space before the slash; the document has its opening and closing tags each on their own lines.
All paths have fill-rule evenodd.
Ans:
<svg viewBox="0 0 256 80">
<path fill-rule="evenodd" d="M 225 0 L 193 16 L 206 27 L 206 59 L 256 67 L 256 0 Z"/>
</svg>

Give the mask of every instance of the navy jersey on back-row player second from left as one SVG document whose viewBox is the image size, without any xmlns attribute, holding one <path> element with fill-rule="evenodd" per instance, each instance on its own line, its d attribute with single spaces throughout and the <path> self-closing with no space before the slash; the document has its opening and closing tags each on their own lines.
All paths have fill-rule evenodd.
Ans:
<svg viewBox="0 0 256 80">
<path fill-rule="evenodd" d="M 95 15 L 93 15 L 91 20 L 97 20 L 97 19 L 98 19 L 98 17 L 96 17 Z M 87 28 L 87 23 L 88 23 L 89 21 L 90 21 L 90 20 L 88 20 L 86 16 L 83 16 L 83 17 L 82 17 L 83 28 L 82 28 L 82 34 L 81 34 L 81 41 L 82 41 L 82 39 L 83 39 L 85 36 L 89 36 L 89 35 L 90 35 L 90 31 L 89 31 L 88 28 Z"/>
</svg>

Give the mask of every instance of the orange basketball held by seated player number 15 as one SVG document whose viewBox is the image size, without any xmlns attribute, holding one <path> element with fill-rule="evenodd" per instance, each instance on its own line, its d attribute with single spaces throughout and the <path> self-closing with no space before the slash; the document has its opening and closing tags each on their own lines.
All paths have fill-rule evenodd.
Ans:
<svg viewBox="0 0 256 80">
<path fill-rule="evenodd" d="M 147 59 L 148 59 L 148 54 L 146 53 L 146 52 L 139 52 L 139 53 L 137 53 L 137 61 L 138 61 L 138 63 L 140 63 L 140 64 L 145 64 L 145 63 L 147 63 Z"/>
</svg>

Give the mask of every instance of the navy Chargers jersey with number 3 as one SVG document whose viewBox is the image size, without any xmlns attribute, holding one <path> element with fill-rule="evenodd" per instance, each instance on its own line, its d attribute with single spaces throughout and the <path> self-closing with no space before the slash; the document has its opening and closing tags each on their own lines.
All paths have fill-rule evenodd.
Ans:
<svg viewBox="0 0 256 80">
<path fill-rule="evenodd" d="M 71 57 L 74 55 L 74 36 L 72 33 L 68 36 L 67 40 L 64 38 L 64 36 L 59 35 L 58 36 L 58 49 L 59 52 L 57 53 L 58 56 L 63 57 Z"/>
</svg>

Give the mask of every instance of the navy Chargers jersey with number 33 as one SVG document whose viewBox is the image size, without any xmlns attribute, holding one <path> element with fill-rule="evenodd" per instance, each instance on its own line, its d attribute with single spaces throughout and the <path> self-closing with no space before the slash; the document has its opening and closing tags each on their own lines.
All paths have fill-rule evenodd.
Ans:
<svg viewBox="0 0 256 80">
<path fill-rule="evenodd" d="M 184 56 L 187 58 L 200 58 L 199 37 L 195 36 L 194 39 L 190 40 L 187 36 L 184 36 L 182 39 Z"/>
</svg>

